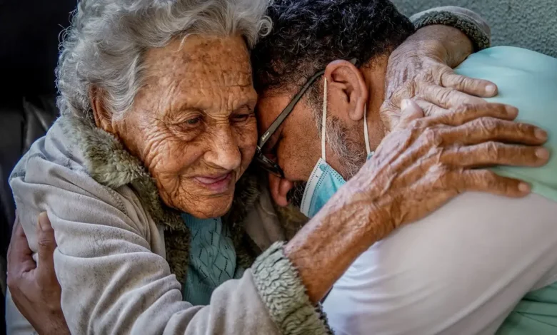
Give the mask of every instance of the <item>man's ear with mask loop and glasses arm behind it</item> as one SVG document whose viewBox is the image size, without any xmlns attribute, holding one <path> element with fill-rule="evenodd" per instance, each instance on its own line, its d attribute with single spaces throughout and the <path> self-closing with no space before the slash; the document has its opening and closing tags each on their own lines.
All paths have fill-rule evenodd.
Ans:
<svg viewBox="0 0 557 335">
<path fill-rule="evenodd" d="M 335 102 L 331 96 L 330 104 L 342 103 L 343 106 L 339 110 L 347 110 L 353 121 L 361 120 L 363 113 L 366 113 L 368 88 L 360 70 L 349 61 L 333 61 L 325 68 L 325 78 L 328 81 L 328 90 L 334 91 L 335 96 L 339 94 L 340 97 L 340 100 Z"/>
</svg>

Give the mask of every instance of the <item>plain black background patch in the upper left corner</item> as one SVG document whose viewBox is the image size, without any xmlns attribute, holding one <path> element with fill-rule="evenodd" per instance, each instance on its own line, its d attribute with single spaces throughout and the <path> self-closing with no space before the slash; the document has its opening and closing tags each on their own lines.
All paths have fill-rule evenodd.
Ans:
<svg viewBox="0 0 557 335">
<path fill-rule="evenodd" d="M 53 94 L 62 29 L 76 0 L 0 0 L 1 96 Z"/>
</svg>

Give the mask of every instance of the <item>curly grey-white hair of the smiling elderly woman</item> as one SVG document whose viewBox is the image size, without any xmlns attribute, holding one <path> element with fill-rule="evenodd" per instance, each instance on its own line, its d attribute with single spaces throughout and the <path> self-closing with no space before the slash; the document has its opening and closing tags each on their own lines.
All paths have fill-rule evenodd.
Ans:
<svg viewBox="0 0 557 335">
<path fill-rule="evenodd" d="M 56 68 L 61 115 L 91 119 L 89 91 L 121 118 L 141 88 L 149 48 L 191 34 L 239 34 L 253 47 L 271 31 L 271 0 L 81 0 L 64 33 Z"/>
</svg>

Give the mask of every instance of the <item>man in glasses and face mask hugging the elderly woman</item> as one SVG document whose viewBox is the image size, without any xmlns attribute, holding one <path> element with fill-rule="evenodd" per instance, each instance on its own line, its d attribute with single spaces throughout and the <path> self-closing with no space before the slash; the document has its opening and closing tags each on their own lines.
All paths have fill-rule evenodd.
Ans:
<svg viewBox="0 0 557 335">
<path fill-rule="evenodd" d="M 336 190 L 366 159 L 384 157 L 396 148 L 379 145 L 383 137 L 389 138 L 386 125 L 395 124 L 397 117 L 386 105 L 386 114 L 380 115 L 380 110 L 391 80 L 388 58 L 392 62 L 401 53 L 413 52 L 392 53 L 396 41 L 412 31 L 404 28 L 404 16 L 380 0 L 276 1 L 270 16 L 274 32 L 252 53 L 260 93 L 260 146 L 275 157 L 276 164 L 267 163 L 273 172 L 269 183 L 274 200 L 280 205 L 292 201 L 313 217 L 329 199 L 328 204 L 342 201 L 334 195 Z M 522 120 L 557 128 L 556 59 L 493 48 L 472 56 L 458 71 L 495 82 L 500 88 L 495 100 L 518 106 Z M 431 92 L 412 89 L 428 114 L 448 113 L 447 105 L 428 102 Z M 413 126 L 421 128 L 431 118 L 436 116 Z M 473 122 L 488 131 L 493 130 L 491 121 Z M 439 142 L 446 140 L 431 135 Z M 470 133 L 461 135 L 461 142 L 469 145 L 464 150 L 476 147 Z M 555 138 L 548 145 L 556 150 Z M 483 148 L 497 146 L 487 143 Z M 434 164 L 455 153 L 432 153 L 438 155 Z M 539 150 L 538 155 L 548 153 Z M 393 160 L 389 168 L 397 164 Z M 427 168 L 430 163 L 418 164 Z M 374 244 L 326 298 L 324 308 L 333 330 L 557 334 L 556 170 L 555 158 L 544 168 L 496 168 L 500 175 L 530 182 L 533 194 L 512 200 L 466 193 L 417 225 Z M 440 185 L 446 182 L 439 180 Z M 347 185 L 358 183 L 355 177 Z M 416 207 L 421 207 L 419 181 L 414 185 Z"/>
</svg>

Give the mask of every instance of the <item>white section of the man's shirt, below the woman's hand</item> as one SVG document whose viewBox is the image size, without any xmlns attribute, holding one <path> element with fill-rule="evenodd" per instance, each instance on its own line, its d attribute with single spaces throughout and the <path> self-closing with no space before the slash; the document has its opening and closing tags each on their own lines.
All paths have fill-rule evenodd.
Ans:
<svg viewBox="0 0 557 335">
<path fill-rule="evenodd" d="M 323 304 L 336 334 L 493 334 L 557 282 L 557 202 L 465 193 L 377 242 Z"/>
</svg>

